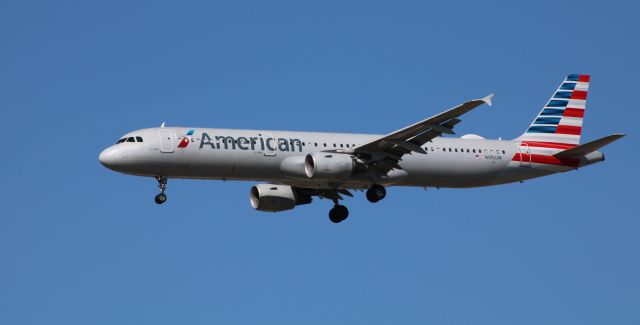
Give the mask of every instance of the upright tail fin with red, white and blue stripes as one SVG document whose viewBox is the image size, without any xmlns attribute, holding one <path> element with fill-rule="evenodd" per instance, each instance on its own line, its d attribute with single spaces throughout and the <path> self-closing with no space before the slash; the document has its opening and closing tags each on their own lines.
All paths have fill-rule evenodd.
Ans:
<svg viewBox="0 0 640 325">
<path fill-rule="evenodd" d="M 568 75 L 529 129 L 516 140 L 579 144 L 588 90 L 589 75 Z"/>
</svg>

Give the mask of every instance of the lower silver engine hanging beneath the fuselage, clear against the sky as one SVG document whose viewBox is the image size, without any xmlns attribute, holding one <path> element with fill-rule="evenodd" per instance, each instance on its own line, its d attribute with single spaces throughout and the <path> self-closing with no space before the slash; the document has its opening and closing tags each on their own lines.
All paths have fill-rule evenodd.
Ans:
<svg viewBox="0 0 640 325">
<path fill-rule="evenodd" d="M 291 210 L 296 205 L 311 203 L 311 196 L 299 193 L 289 185 L 258 184 L 249 193 L 251 206 L 258 211 Z"/>
</svg>

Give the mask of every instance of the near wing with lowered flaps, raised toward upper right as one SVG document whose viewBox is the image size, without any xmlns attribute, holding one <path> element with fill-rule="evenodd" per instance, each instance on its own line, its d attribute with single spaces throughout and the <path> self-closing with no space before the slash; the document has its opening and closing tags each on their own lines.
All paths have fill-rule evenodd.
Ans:
<svg viewBox="0 0 640 325">
<path fill-rule="evenodd" d="M 422 145 L 444 133 L 454 134 L 453 127 L 461 122 L 458 117 L 482 104 L 491 106 L 492 97 L 493 94 L 460 104 L 426 120 L 356 147 L 353 152 L 370 155 L 375 168 L 383 174 L 394 168 L 400 169 L 398 162 L 402 160 L 402 156 L 412 152 L 426 153 L 422 149 Z"/>
</svg>

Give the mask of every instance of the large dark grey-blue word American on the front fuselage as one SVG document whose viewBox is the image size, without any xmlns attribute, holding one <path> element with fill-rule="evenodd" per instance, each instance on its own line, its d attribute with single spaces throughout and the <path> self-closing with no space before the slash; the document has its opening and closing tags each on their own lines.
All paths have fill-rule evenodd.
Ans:
<svg viewBox="0 0 640 325">
<path fill-rule="evenodd" d="M 190 130 L 191 132 L 193 130 Z M 191 133 L 193 134 L 193 133 Z M 187 133 L 187 135 L 189 135 Z M 186 138 L 185 138 L 186 139 Z M 185 141 L 183 139 L 182 141 Z M 189 140 L 187 139 L 187 144 Z M 184 145 L 184 147 L 187 146 Z M 178 147 L 184 148 L 181 146 L 182 142 Z M 264 135 L 259 134 L 257 137 L 231 137 L 224 135 L 217 135 L 211 137 L 207 133 L 202 133 L 202 138 L 200 139 L 200 149 L 208 147 L 211 149 L 231 149 L 231 150 L 253 150 L 253 151 L 292 151 L 292 152 L 302 152 L 302 141 L 300 139 L 287 139 L 287 138 L 274 138 L 274 137 L 265 137 Z"/>
</svg>

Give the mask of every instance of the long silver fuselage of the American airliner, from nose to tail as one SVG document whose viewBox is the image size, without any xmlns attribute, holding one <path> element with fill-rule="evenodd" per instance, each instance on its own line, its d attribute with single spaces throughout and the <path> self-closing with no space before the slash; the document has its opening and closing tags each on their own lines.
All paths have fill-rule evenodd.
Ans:
<svg viewBox="0 0 640 325">
<path fill-rule="evenodd" d="M 194 131 L 187 135 L 190 130 Z M 478 187 L 564 172 L 604 159 L 600 152 L 594 152 L 583 157 L 577 166 L 536 163 L 531 160 L 532 155 L 553 155 L 561 149 L 534 149 L 519 141 L 479 137 L 438 137 L 422 146 L 426 153 L 404 156 L 401 169 L 385 177 L 365 170 L 339 181 L 319 181 L 283 172 L 283 161 L 314 152 L 349 153 L 354 146 L 381 135 L 167 127 L 137 130 L 124 137 L 140 137 L 143 141 L 116 144 L 100 154 L 101 163 L 118 172 L 169 178 L 266 181 L 305 188 L 360 189 L 373 183 Z M 292 160 L 297 158 L 289 159 Z"/>
</svg>

